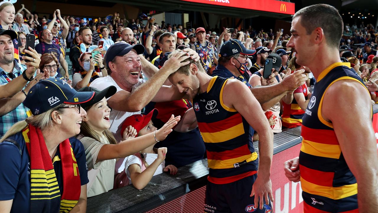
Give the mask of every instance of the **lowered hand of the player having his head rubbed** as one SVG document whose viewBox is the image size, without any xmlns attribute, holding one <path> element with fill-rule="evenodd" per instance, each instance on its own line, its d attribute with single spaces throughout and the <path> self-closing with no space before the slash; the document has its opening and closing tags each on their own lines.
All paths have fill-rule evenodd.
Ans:
<svg viewBox="0 0 378 213">
<path fill-rule="evenodd" d="M 267 205 L 269 204 L 269 198 L 272 202 L 274 202 L 272 193 L 272 182 L 270 178 L 268 180 L 263 180 L 263 178 L 257 177 L 256 181 L 252 185 L 252 191 L 250 196 L 255 196 L 254 204 L 258 204 L 260 209 L 263 208 L 264 199 Z"/>
</svg>

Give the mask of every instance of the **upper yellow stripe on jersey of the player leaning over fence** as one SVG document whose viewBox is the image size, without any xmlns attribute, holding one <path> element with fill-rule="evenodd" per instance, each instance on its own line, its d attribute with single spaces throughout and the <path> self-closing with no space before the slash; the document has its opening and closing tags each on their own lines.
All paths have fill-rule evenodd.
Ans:
<svg viewBox="0 0 378 213">
<path fill-rule="evenodd" d="M 220 132 L 214 132 L 214 133 L 201 132 L 203 141 L 205 143 L 220 143 L 220 142 L 231 140 L 243 134 L 244 134 L 243 123 L 235 125 L 226 130 L 222 130 Z"/>
</svg>

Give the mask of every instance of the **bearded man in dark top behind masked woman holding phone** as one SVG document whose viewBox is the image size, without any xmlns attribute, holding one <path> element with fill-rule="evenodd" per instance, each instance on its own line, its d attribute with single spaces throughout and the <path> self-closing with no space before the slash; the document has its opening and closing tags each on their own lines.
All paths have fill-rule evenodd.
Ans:
<svg viewBox="0 0 378 213">
<path fill-rule="evenodd" d="M 88 47 L 92 44 L 92 31 L 89 27 L 81 27 L 79 29 L 79 38 L 80 38 L 80 44 L 85 44 L 85 47 L 88 50 Z M 72 63 L 72 67 L 74 70 L 74 73 L 81 71 L 81 66 L 79 64 L 79 58 L 81 55 L 80 50 L 80 44 L 74 45 L 70 49 L 70 60 Z"/>
</svg>

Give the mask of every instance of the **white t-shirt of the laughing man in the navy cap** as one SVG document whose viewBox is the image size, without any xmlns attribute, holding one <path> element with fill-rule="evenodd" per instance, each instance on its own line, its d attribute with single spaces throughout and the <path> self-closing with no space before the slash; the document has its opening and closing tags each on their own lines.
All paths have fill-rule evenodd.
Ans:
<svg viewBox="0 0 378 213">
<path fill-rule="evenodd" d="M 136 85 L 133 86 L 132 91 L 134 91 L 138 86 L 140 86 L 141 84 L 143 84 L 146 81 L 147 80 L 139 78 L 139 82 L 136 83 Z M 117 92 L 123 90 L 117 85 L 117 83 L 114 81 L 114 79 L 110 75 L 102 77 L 102 78 L 96 78 L 94 81 L 92 81 L 90 86 L 94 87 L 96 89 L 99 89 L 99 90 L 103 90 L 103 89 L 105 89 L 109 86 L 115 86 L 117 88 Z M 123 122 L 125 121 L 125 119 L 127 117 L 132 116 L 133 114 L 141 114 L 141 111 L 132 112 L 132 113 L 124 112 L 124 111 L 118 111 L 118 110 L 110 111 L 110 116 L 109 116 L 110 128 L 109 128 L 109 130 L 110 130 L 110 132 L 113 133 L 113 135 L 114 135 L 114 137 L 117 141 L 121 141 L 121 139 L 122 139 L 121 127 L 122 127 Z M 117 169 L 117 167 L 116 167 L 116 169 Z M 123 169 L 121 170 L 121 172 L 122 171 L 123 171 Z"/>
</svg>

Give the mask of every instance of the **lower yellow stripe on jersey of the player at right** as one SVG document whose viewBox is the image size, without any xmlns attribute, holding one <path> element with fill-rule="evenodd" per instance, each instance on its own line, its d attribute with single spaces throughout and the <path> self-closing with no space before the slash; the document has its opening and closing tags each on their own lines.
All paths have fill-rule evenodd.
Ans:
<svg viewBox="0 0 378 213">
<path fill-rule="evenodd" d="M 302 190 L 307 193 L 328 197 L 333 200 L 339 200 L 357 194 L 357 183 L 339 187 L 319 186 L 307 182 L 301 177 L 301 185 Z"/>
</svg>

